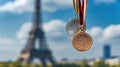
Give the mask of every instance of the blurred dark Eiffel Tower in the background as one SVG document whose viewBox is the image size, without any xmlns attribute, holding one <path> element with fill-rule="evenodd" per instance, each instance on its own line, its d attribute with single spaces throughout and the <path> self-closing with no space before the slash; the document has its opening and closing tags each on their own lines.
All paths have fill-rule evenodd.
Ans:
<svg viewBox="0 0 120 67">
<path fill-rule="evenodd" d="M 39 48 L 35 47 L 36 39 L 39 40 Z M 47 66 L 46 60 L 50 61 L 55 67 L 56 62 L 51 50 L 46 43 L 45 33 L 42 29 L 41 0 L 35 0 L 35 15 L 29 39 L 25 48 L 21 51 L 18 61 L 21 63 L 32 63 L 33 59 L 38 58 L 43 67 Z"/>
</svg>

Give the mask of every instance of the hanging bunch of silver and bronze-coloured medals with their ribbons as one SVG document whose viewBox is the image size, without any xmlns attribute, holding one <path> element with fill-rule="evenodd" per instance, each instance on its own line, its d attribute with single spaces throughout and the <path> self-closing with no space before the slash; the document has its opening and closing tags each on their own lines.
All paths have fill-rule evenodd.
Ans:
<svg viewBox="0 0 120 67">
<path fill-rule="evenodd" d="M 88 0 L 73 0 L 76 18 L 70 20 L 66 25 L 67 33 L 73 37 L 73 47 L 81 52 L 87 51 L 92 47 L 93 41 L 91 36 L 86 33 L 86 9 Z"/>
</svg>

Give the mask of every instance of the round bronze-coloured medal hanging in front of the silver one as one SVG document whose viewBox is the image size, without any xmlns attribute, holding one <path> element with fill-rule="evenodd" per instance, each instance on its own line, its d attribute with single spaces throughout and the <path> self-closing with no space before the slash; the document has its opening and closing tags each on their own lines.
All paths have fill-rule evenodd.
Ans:
<svg viewBox="0 0 120 67">
<path fill-rule="evenodd" d="M 89 34 L 78 31 L 72 39 L 72 44 L 75 49 L 84 52 L 92 47 L 93 41 Z"/>
</svg>

